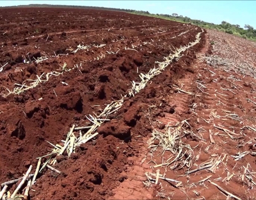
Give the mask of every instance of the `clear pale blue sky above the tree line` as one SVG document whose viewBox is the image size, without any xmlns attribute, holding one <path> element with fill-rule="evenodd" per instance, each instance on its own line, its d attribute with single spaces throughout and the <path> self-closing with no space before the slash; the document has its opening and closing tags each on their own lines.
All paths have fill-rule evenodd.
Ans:
<svg viewBox="0 0 256 200">
<path fill-rule="evenodd" d="M 256 28 L 254 0 L 1 0 L 1 6 L 38 4 L 88 5 L 188 16 L 207 22 L 249 24 Z"/>
</svg>

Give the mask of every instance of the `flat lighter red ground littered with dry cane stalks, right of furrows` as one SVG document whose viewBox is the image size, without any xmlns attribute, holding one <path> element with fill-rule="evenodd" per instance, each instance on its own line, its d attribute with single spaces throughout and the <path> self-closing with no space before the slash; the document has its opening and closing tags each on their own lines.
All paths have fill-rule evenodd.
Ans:
<svg viewBox="0 0 256 200">
<path fill-rule="evenodd" d="M 162 95 L 169 108 L 152 123 L 168 126 L 147 141 L 153 170 L 144 184 L 158 198 L 254 199 L 256 45 L 213 30 L 205 38 L 194 73 L 178 80 L 189 93 Z M 176 182 L 155 186 L 158 170 Z"/>
</svg>

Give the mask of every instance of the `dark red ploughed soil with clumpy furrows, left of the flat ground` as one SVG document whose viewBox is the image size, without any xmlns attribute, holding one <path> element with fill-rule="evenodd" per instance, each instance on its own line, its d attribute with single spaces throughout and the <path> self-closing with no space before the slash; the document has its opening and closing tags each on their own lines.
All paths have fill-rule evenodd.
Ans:
<svg viewBox="0 0 256 200">
<path fill-rule="evenodd" d="M 46 140 L 58 143 L 66 138 L 72 124 L 85 125 L 85 115 L 98 114 L 104 104 L 120 99 L 132 80 L 140 80 L 139 73 L 154 68 L 155 61 L 163 61 L 173 47 L 187 45 L 201 31 L 196 26 L 115 11 L 17 8 L 1 9 L 1 14 L 5 18 L 0 19 L 0 63 L 8 62 L 0 72 L 1 93 L 7 94 L 5 87 L 12 90 L 14 83 L 24 84 L 43 72 L 58 70 L 64 62 L 67 68 L 82 63 L 19 95 L 0 97 L 2 182 L 22 176 L 30 164 L 35 170 L 36 157 L 50 149 Z M 76 53 L 67 50 L 76 49 L 79 43 L 106 45 Z M 98 128 L 96 140 L 78 147 L 71 158 L 59 157 L 54 167 L 64 172 L 63 176 L 45 169 L 30 192 L 32 199 L 111 198 L 112 190 L 127 178 L 127 166 L 136 160 L 129 157 L 140 155 L 139 136 L 147 138 L 152 131 L 145 116 L 149 104 L 162 101 L 162 107 L 168 106 L 160 96 L 190 74 L 190 65 L 204 43 L 202 33 L 200 43 L 185 51 L 166 72 L 153 78 L 134 98 L 125 98 L 121 109 Z M 66 55 L 56 57 L 54 52 Z M 97 59 L 101 52 L 105 56 Z M 48 59 L 35 63 L 34 59 L 44 54 Z M 25 57 L 31 61 L 22 63 Z M 15 185 L 10 191 L 14 189 Z"/>
</svg>

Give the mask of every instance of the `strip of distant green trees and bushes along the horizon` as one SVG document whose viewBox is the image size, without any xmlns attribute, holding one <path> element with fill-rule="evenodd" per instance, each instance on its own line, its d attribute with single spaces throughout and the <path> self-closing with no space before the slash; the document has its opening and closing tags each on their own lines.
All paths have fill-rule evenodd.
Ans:
<svg viewBox="0 0 256 200">
<path fill-rule="evenodd" d="M 115 10 L 131 12 L 134 14 L 141 14 L 147 16 L 153 16 L 158 18 L 164 18 L 168 20 L 179 21 L 183 23 L 188 23 L 189 21 L 194 24 L 201 26 L 203 28 L 215 29 L 229 34 L 233 34 L 245 39 L 250 39 L 256 41 L 256 29 L 251 25 L 245 24 L 244 27 L 240 27 L 238 24 L 231 24 L 226 21 L 222 21 L 221 24 L 209 23 L 203 20 L 191 19 L 187 16 L 179 15 L 177 13 L 172 14 L 151 14 L 149 11 L 138 11 L 133 9 L 120 9 L 120 8 L 110 8 L 110 7 L 96 7 L 96 6 L 80 6 L 80 5 L 50 5 L 50 4 L 29 4 L 29 5 L 18 5 L 9 7 L 73 7 L 73 8 L 87 8 L 87 9 L 104 9 L 104 10 Z"/>
</svg>

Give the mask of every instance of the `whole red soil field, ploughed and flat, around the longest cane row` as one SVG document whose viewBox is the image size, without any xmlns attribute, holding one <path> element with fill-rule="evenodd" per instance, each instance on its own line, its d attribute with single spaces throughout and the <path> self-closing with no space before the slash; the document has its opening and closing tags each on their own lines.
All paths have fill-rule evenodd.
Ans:
<svg viewBox="0 0 256 200">
<path fill-rule="evenodd" d="M 2 9 L 0 20 L 1 182 L 22 177 L 30 165 L 34 172 L 36 158 L 51 152 L 49 142 L 63 146 L 73 124 L 88 125 L 88 116 L 126 95 L 98 135 L 56 157 L 52 166 L 62 174 L 43 169 L 31 199 L 254 196 L 255 62 L 243 54 L 255 53 L 252 42 L 242 40 L 251 47 L 241 48 L 230 35 L 116 11 Z M 189 46 L 193 41 L 199 42 Z M 189 47 L 129 97 L 140 73 L 183 46 Z M 176 182 L 155 184 L 156 172 Z"/>
</svg>

